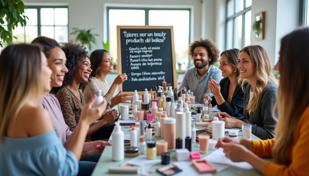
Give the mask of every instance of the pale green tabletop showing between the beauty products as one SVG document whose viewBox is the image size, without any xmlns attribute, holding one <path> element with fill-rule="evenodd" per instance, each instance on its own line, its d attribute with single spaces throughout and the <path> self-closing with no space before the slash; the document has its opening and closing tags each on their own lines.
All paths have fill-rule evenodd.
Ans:
<svg viewBox="0 0 309 176">
<path fill-rule="evenodd" d="M 215 113 L 213 113 L 214 115 Z M 119 120 L 120 120 L 120 117 L 119 117 Z M 192 121 L 192 123 L 195 123 L 196 121 Z M 122 125 L 121 126 L 121 130 L 124 132 L 124 134 L 130 134 L 130 130 L 131 128 L 128 128 L 129 126 L 124 126 Z M 198 130 L 198 129 L 197 129 Z M 241 131 L 239 132 L 239 138 L 241 138 L 242 136 L 242 133 Z M 252 134 L 252 139 L 254 140 L 260 140 L 258 137 L 256 137 L 255 135 Z M 154 141 L 161 141 L 161 140 L 164 140 L 160 137 L 155 137 L 154 135 L 152 136 L 152 140 Z M 147 140 L 148 141 L 148 140 Z M 147 142 L 146 141 L 146 142 Z M 192 151 L 199 151 L 199 147 L 197 147 L 197 144 L 198 142 L 196 143 L 192 143 Z M 206 154 L 202 154 L 201 153 L 201 158 L 204 158 L 205 156 L 209 155 L 210 153 L 214 152 L 215 150 L 209 150 Z M 171 163 L 173 162 L 176 162 L 176 158 L 175 158 L 175 149 L 169 149 L 168 152 L 170 152 L 171 154 L 171 158 L 170 158 L 170 161 Z M 139 154 L 140 156 L 141 154 Z M 122 163 L 125 163 L 129 160 L 131 160 L 133 158 L 124 158 L 124 160 L 122 161 L 118 161 L 118 162 L 115 162 L 115 161 L 112 161 L 112 146 L 106 146 L 100 159 L 99 159 L 99 162 L 97 163 L 97 165 L 95 166 L 95 169 L 94 171 L 92 172 L 92 176 L 102 176 L 102 175 L 113 175 L 113 176 L 116 176 L 116 175 L 138 175 L 138 174 L 109 174 L 108 173 L 108 168 L 110 166 L 120 166 Z M 156 159 L 161 159 L 161 156 L 157 156 Z M 146 174 L 146 175 L 160 175 L 158 172 L 155 172 L 155 169 L 159 168 L 159 167 L 162 167 L 164 165 L 161 165 L 161 163 L 159 164 L 156 164 L 152 167 L 150 167 L 148 170 L 153 170 L 154 172 L 151 173 L 151 174 Z M 141 175 L 141 174 L 139 174 Z M 143 174 L 145 175 L 145 174 Z M 181 172 L 176 174 L 176 176 L 180 176 L 181 175 Z M 245 169 L 240 169 L 240 168 L 235 168 L 235 167 L 229 167 L 225 170 L 222 170 L 221 172 L 218 172 L 218 173 L 215 173 L 213 174 L 215 176 L 226 176 L 226 175 L 231 175 L 231 176 L 236 176 L 236 175 L 250 175 L 250 176 L 254 176 L 254 175 L 262 175 L 261 173 L 259 173 L 258 171 L 254 170 L 254 169 L 251 169 L 251 170 L 245 170 Z"/>
</svg>

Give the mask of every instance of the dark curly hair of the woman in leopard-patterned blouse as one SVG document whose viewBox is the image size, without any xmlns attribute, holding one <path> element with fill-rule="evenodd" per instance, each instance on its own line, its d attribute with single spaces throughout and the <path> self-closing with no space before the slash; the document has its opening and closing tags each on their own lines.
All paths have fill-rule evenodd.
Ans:
<svg viewBox="0 0 309 176">
<path fill-rule="evenodd" d="M 75 44 L 72 40 L 69 42 L 60 43 L 61 49 L 66 54 L 66 67 L 68 68 L 69 72 L 66 73 L 64 76 L 64 80 L 62 83 L 62 87 L 65 87 L 68 84 L 72 83 L 72 75 L 74 74 L 75 70 L 79 68 L 79 62 L 87 57 L 86 48 L 81 44 Z M 79 88 L 83 87 L 87 83 L 80 84 Z M 58 90 L 62 87 L 53 87 L 51 90 L 52 94 L 56 94 Z"/>
</svg>

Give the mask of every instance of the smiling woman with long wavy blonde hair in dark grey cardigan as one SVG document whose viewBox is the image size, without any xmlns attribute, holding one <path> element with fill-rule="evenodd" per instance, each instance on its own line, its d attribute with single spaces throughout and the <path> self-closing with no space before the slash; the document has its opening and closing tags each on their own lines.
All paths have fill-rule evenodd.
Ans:
<svg viewBox="0 0 309 176">
<path fill-rule="evenodd" d="M 277 80 L 265 49 L 259 45 L 244 47 L 239 54 L 239 84 L 244 90 L 243 117 L 232 117 L 227 113 L 217 113 L 219 120 L 225 121 L 226 128 L 242 124 L 252 125 L 252 134 L 260 139 L 274 138 L 277 114 L 273 117 L 273 106 L 277 93 Z M 244 86 L 245 83 L 249 83 Z"/>
</svg>

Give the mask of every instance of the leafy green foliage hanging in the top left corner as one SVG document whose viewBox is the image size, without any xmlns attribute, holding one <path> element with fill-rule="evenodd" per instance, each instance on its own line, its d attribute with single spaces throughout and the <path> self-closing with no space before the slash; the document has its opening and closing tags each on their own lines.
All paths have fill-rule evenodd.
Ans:
<svg viewBox="0 0 309 176">
<path fill-rule="evenodd" d="M 26 25 L 27 16 L 24 15 L 25 6 L 21 0 L 1 0 L 0 1 L 0 46 L 2 43 L 10 44 L 13 37 L 12 31 L 17 27 L 18 23 L 21 26 Z M 7 28 L 4 28 L 4 20 L 7 21 Z"/>
</svg>

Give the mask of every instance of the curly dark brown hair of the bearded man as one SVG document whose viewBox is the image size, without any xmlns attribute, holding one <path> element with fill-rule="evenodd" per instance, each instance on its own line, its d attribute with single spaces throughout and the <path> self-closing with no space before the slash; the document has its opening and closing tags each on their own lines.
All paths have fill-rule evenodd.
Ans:
<svg viewBox="0 0 309 176">
<path fill-rule="evenodd" d="M 205 47 L 208 52 L 208 57 L 211 57 L 210 65 L 215 64 L 219 61 L 219 50 L 216 44 L 210 39 L 199 39 L 190 44 L 188 54 L 193 58 L 193 52 L 196 47 Z"/>
</svg>

